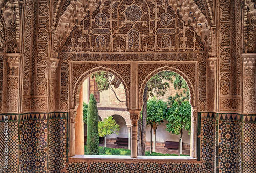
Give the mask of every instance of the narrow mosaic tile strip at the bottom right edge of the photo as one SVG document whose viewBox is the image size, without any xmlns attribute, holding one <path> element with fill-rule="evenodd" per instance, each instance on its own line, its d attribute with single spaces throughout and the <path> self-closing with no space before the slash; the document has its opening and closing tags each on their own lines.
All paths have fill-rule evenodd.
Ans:
<svg viewBox="0 0 256 173">
<path fill-rule="evenodd" d="M 244 123 L 244 166 L 246 173 L 256 172 L 256 123 Z"/>
</svg>

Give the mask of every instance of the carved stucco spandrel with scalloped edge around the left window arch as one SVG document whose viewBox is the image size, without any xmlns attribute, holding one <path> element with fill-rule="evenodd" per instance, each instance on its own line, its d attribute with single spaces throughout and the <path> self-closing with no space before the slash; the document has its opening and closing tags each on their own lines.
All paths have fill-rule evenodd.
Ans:
<svg viewBox="0 0 256 173">
<path fill-rule="evenodd" d="M 81 64 L 82 65 L 82 64 Z M 124 90 L 125 90 L 125 97 L 126 97 L 126 106 L 127 108 L 130 107 L 130 98 L 129 98 L 129 91 L 130 91 L 130 64 L 126 64 L 127 65 L 127 70 L 129 69 L 129 71 L 124 72 L 123 71 L 123 66 L 125 66 L 125 64 L 116 64 L 117 66 L 120 65 L 120 70 L 118 70 L 118 68 L 114 68 L 114 64 L 101 64 L 101 66 L 97 66 L 94 68 L 91 68 L 90 70 L 87 70 L 86 72 L 82 73 L 79 75 L 79 77 L 77 79 L 72 79 L 74 83 L 74 86 L 72 87 L 72 102 L 71 102 L 71 109 L 76 110 L 77 106 L 79 105 L 79 99 L 77 99 L 77 97 L 79 97 L 80 94 L 80 89 L 81 89 L 81 85 L 84 82 L 84 80 L 86 80 L 92 73 L 98 72 L 98 71 L 106 71 L 106 72 L 110 72 L 116 76 L 118 76 L 118 78 L 121 80 Z M 74 66 L 74 64 L 73 64 Z M 112 67 L 111 67 L 112 66 Z M 114 70 L 113 70 L 114 69 Z M 123 73 L 122 73 L 123 72 Z M 74 77 L 76 74 L 74 74 L 74 69 L 73 69 L 73 74 L 72 77 Z"/>
</svg>

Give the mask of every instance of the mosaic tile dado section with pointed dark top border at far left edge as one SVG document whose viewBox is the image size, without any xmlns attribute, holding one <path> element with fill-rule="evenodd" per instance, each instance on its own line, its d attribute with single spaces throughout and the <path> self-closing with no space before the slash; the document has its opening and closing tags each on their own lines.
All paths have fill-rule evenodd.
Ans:
<svg viewBox="0 0 256 173">
<path fill-rule="evenodd" d="M 6 122 L 8 121 L 8 122 Z M 7 127 L 7 128 L 6 128 Z M 18 171 L 18 114 L 0 115 L 0 172 Z M 8 136 L 7 139 L 5 138 Z M 6 159 L 6 156 L 8 157 Z M 5 159 L 5 160 L 4 160 Z M 4 163 L 8 161 L 8 167 Z"/>
</svg>

